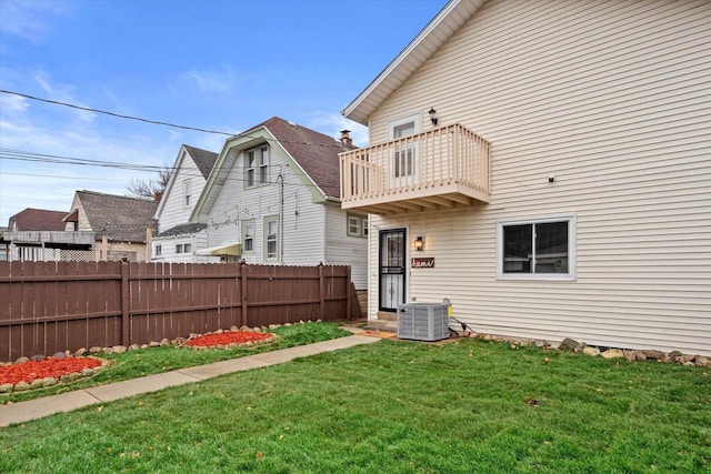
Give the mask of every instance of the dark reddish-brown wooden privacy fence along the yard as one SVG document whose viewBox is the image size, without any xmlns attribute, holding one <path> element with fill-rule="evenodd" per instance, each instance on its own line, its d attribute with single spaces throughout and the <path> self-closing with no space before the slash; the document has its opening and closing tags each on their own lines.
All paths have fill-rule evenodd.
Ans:
<svg viewBox="0 0 711 474">
<path fill-rule="evenodd" d="M 0 361 L 351 319 L 354 301 L 350 266 L 0 262 Z"/>
</svg>

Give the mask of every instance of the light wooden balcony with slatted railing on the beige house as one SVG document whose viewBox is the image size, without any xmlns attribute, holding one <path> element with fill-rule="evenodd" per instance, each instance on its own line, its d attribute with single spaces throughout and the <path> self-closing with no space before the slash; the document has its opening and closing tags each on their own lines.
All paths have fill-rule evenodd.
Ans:
<svg viewBox="0 0 711 474">
<path fill-rule="evenodd" d="M 341 153 L 341 208 L 385 215 L 487 203 L 490 154 L 458 124 Z"/>
</svg>

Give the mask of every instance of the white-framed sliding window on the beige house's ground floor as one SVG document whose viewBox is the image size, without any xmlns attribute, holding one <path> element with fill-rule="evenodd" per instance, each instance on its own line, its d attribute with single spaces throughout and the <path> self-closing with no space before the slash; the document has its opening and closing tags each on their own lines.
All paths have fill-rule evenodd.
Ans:
<svg viewBox="0 0 711 474">
<path fill-rule="evenodd" d="M 574 280 L 575 216 L 498 222 L 497 268 L 503 280 Z"/>
</svg>

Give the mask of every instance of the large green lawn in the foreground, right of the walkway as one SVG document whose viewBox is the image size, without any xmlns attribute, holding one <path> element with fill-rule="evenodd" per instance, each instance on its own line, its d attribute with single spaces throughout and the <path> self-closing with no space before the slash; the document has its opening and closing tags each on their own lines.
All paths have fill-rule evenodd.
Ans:
<svg viewBox="0 0 711 474">
<path fill-rule="evenodd" d="M 711 375 L 379 341 L 0 430 L 2 473 L 186 470 L 711 472 Z"/>
</svg>

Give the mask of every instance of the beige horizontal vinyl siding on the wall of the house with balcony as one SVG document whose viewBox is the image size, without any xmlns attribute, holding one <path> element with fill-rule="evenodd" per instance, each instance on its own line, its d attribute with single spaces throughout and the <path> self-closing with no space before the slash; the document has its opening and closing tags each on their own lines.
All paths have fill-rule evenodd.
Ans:
<svg viewBox="0 0 711 474">
<path fill-rule="evenodd" d="M 467 22 L 370 121 L 379 143 L 434 107 L 492 144 L 489 204 L 373 218 L 435 258 L 410 296 L 481 332 L 711 353 L 709 24 L 708 1 L 645 0 L 492 1 Z M 577 280 L 498 280 L 497 222 L 561 214 Z"/>
</svg>

